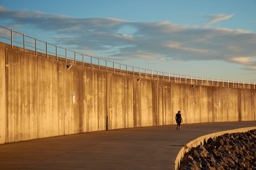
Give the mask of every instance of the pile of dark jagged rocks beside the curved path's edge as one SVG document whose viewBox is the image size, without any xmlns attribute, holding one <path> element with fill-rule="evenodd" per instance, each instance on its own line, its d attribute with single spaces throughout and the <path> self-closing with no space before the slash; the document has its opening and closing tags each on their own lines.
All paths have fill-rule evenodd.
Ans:
<svg viewBox="0 0 256 170">
<path fill-rule="evenodd" d="M 180 170 L 256 170 L 256 129 L 207 140 L 184 155 Z"/>
</svg>

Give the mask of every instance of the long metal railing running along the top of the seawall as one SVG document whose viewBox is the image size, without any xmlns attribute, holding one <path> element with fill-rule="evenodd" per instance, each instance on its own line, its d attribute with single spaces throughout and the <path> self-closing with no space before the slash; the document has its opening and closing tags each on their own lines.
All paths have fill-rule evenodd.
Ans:
<svg viewBox="0 0 256 170">
<path fill-rule="evenodd" d="M 46 58 L 56 61 L 63 61 L 64 59 L 64 62 L 67 64 L 90 67 L 92 69 L 99 69 L 99 71 L 112 72 L 115 74 L 191 85 L 255 89 L 255 83 L 250 82 L 209 79 L 204 77 L 165 73 L 111 62 L 100 59 L 99 57 L 92 57 L 84 53 L 68 50 L 54 44 L 37 40 L 36 38 L 29 37 L 3 26 L 0 26 L 0 42 L 10 44 L 12 49 L 13 46 L 17 46 L 22 48 L 24 52 L 34 52 L 35 55 L 45 56 Z"/>
</svg>

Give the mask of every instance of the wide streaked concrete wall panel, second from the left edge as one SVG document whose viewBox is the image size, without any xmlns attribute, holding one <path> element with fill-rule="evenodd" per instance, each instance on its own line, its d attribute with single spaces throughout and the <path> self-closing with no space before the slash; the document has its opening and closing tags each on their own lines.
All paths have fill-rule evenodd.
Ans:
<svg viewBox="0 0 256 170">
<path fill-rule="evenodd" d="M 37 58 L 6 48 L 5 66 L 6 142 L 37 139 Z"/>
</svg>

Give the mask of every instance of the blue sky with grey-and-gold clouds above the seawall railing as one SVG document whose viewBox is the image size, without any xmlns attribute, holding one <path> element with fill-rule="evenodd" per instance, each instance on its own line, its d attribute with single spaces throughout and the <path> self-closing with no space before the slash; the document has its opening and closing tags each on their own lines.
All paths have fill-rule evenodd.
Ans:
<svg viewBox="0 0 256 170">
<path fill-rule="evenodd" d="M 253 83 L 255 8 L 256 0 L 0 0 L 0 25 L 129 66 Z"/>
</svg>

